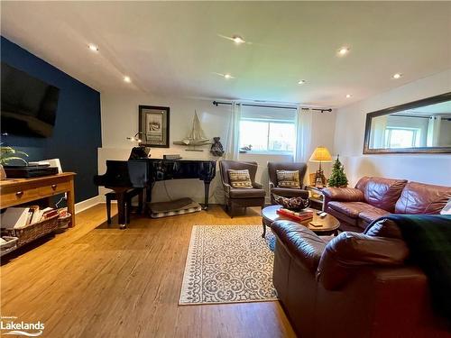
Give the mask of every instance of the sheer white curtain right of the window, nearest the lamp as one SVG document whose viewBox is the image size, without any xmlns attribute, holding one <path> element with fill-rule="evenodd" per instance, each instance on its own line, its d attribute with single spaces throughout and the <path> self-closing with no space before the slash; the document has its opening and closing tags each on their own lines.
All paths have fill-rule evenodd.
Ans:
<svg viewBox="0 0 451 338">
<path fill-rule="evenodd" d="M 308 108 L 300 108 L 296 111 L 296 150 L 295 162 L 308 163 L 311 152 L 311 126 L 312 112 Z"/>
</svg>

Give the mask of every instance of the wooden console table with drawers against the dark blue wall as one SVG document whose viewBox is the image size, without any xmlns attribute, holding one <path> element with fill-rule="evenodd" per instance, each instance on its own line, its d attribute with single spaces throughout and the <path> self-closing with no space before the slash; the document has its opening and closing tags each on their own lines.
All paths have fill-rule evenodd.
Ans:
<svg viewBox="0 0 451 338">
<path fill-rule="evenodd" d="M 69 226 L 75 226 L 74 172 L 39 178 L 6 178 L 0 181 L 0 209 L 68 193 Z"/>
</svg>

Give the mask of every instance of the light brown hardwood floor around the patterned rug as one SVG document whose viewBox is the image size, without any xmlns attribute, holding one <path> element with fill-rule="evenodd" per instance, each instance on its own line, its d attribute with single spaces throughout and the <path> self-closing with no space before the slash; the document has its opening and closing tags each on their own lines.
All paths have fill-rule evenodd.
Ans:
<svg viewBox="0 0 451 338">
<path fill-rule="evenodd" d="M 135 215 L 121 231 L 94 206 L 75 228 L 2 260 L 1 315 L 41 320 L 43 337 L 294 337 L 279 302 L 178 305 L 192 225 L 261 224 L 258 210 Z"/>
</svg>

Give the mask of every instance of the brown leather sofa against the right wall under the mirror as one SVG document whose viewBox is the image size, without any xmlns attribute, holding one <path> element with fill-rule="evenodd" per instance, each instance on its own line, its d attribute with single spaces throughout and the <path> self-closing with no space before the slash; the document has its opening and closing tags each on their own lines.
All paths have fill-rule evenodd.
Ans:
<svg viewBox="0 0 451 338">
<path fill-rule="evenodd" d="M 336 216 L 340 229 L 363 232 L 388 214 L 439 214 L 451 198 L 451 187 L 405 179 L 360 178 L 355 187 L 326 187 L 324 210 Z"/>
</svg>

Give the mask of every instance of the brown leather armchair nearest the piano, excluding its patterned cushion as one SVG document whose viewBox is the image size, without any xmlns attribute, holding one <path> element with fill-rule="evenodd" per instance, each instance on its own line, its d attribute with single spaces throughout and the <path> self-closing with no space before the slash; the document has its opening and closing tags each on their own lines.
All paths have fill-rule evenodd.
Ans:
<svg viewBox="0 0 451 338">
<path fill-rule="evenodd" d="M 249 176 L 253 184 L 253 188 L 235 188 L 230 185 L 228 170 L 249 170 Z M 264 207 L 265 190 L 260 183 L 255 182 L 255 174 L 257 173 L 257 162 L 240 162 L 236 160 L 219 161 L 219 171 L 226 195 L 226 211 L 231 217 L 235 215 L 237 208 L 246 208 L 247 206 Z"/>
</svg>

